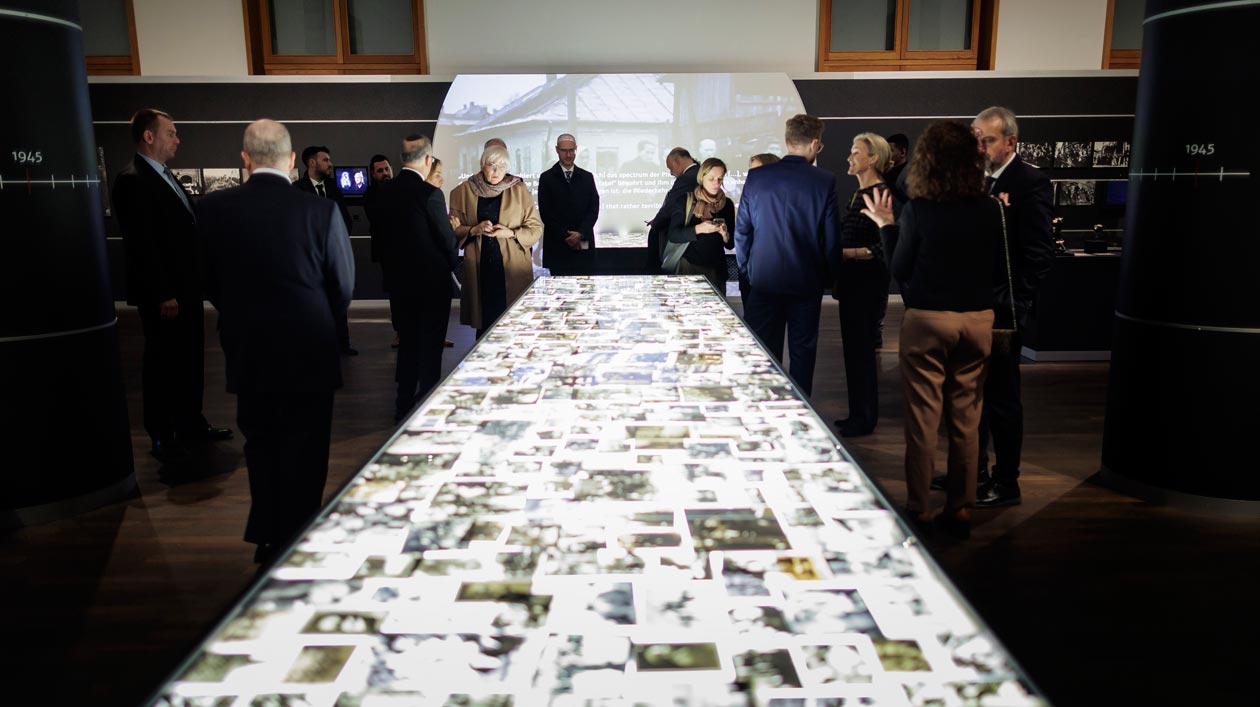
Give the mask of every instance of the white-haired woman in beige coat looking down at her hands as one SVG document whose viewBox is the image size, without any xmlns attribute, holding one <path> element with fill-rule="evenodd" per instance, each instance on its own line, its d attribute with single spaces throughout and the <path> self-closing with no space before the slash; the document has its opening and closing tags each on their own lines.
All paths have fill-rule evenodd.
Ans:
<svg viewBox="0 0 1260 707">
<path fill-rule="evenodd" d="M 478 338 L 533 282 L 529 252 L 543 234 L 533 195 L 508 166 L 507 150 L 486 147 L 481 171 L 451 192 L 464 248 L 460 323 L 476 329 Z"/>
</svg>

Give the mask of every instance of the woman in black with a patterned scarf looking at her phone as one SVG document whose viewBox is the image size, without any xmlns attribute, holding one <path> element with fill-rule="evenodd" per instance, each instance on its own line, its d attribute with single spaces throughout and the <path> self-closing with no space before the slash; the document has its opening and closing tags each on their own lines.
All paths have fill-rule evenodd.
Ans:
<svg viewBox="0 0 1260 707">
<path fill-rule="evenodd" d="M 696 173 L 697 187 L 674 198 L 670 209 L 669 248 L 685 248 L 678 275 L 703 275 L 726 295 L 726 248 L 731 244 L 735 203 L 726 198 L 722 179 L 726 163 L 709 158 Z"/>
</svg>

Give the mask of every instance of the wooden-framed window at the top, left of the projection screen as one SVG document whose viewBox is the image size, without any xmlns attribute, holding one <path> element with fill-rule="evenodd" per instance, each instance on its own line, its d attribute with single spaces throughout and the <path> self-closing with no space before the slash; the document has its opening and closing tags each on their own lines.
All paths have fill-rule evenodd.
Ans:
<svg viewBox="0 0 1260 707">
<path fill-rule="evenodd" d="M 423 0 L 242 0 L 249 73 L 428 73 Z"/>
</svg>

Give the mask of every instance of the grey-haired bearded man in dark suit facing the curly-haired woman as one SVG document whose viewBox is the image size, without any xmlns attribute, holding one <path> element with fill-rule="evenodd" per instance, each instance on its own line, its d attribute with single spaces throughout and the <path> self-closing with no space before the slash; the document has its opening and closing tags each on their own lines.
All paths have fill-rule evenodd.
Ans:
<svg viewBox="0 0 1260 707">
<path fill-rule="evenodd" d="M 1016 328 L 1008 353 L 989 358 L 984 381 L 984 411 L 980 415 L 980 489 L 978 508 L 1019 503 L 1019 457 L 1023 451 L 1023 402 L 1021 399 L 1019 350 L 1022 334 L 1033 311 L 1037 287 L 1055 262 L 1051 237 L 1053 187 L 1040 169 L 1019 159 L 1019 126 L 1007 108 L 985 108 L 971 122 L 971 130 L 985 155 L 985 183 L 989 193 L 1005 202 L 1007 241 L 1011 246 L 1011 280 L 994 295 L 995 328 Z M 1011 321 L 1014 304 L 1016 321 Z M 993 437 L 994 464 L 989 465 L 989 437 Z"/>
</svg>

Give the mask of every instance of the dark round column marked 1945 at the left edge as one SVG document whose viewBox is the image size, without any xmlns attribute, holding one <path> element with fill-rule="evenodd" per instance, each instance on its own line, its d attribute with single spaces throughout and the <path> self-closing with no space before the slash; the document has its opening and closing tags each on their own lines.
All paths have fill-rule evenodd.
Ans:
<svg viewBox="0 0 1260 707">
<path fill-rule="evenodd" d="M 135 485 L 77 23 L 74 0 L 0 0 L 0 526 Z"/>
</svg>

